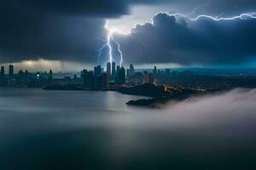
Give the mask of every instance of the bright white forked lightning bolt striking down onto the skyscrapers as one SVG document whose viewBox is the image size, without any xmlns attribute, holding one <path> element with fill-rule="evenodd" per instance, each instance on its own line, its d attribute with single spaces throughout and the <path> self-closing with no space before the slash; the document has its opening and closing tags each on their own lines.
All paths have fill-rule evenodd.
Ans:
<svg viewBox="0 0 256 170">
<path fill-rule="evenodd" d="M 98 51 L 98 59 L 97 61 L 99 62 L 99 59 L 101 58 L 102 56 L 102 50 L 104 48 L 107 48 L 108 47 L 108 61 L 109 62 L 113 62 L 113 47 L 112 47 L 112 44 L 111 42 L 114 42 L 117 44 L 118 48 L 118 52 L 119 52 L 119 55 L 120 55 L 120 61 L 119 61 L 119 65 L 122 66 L 123 65 L 123 52 L 121 51 L 121 47 L 120 47 L 120 44 L 119 42 L 115 41 L 114 38 L 113 38 L 113 33 L 114 32 L 118 32 L 119 34 L 125 34 L 123 32 L 119 32 L 118 30 L 116 30 L 115 28 L 109 28 L 108 27 L 108 20 L 106 20 L 106 24 L 104 26 L 104 28 L 108 31 L 108 36 L 107 36 L 107 41 L 105 42 L 105 44 L 103 44 L 102 48 L 99 48 L 97 51 Z"/>
</svg>

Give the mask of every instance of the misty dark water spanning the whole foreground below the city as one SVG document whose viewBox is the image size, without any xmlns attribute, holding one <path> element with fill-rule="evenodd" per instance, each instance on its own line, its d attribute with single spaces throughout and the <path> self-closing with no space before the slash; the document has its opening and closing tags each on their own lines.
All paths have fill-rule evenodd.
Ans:
<svg viewBox="0 0 256 170">
<path fill-rule="evenodd" d="M 160 110 L 130 99 L 0 88 L 0 169 L 255 169 L 255 90 Z"/>
</svg>

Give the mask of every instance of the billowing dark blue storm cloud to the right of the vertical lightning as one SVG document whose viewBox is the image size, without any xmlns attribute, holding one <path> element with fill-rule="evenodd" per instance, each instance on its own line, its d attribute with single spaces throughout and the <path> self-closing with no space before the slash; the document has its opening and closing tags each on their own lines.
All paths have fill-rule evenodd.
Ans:
<svg viewBox="0 0 256 170">
<path fill-rule="evenodd" d="M 256 19 L 184 20 L 156 14 L 118 37 L 126 62 L 239 64 L 255 59 Z M 132 49 L 132 50 L 131 50 Z"/>
</svg>

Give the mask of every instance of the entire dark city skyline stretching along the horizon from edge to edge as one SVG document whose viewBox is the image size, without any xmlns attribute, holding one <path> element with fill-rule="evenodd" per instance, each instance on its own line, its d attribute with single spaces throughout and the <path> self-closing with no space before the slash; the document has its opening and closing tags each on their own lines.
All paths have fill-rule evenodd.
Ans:
<svg viewBox="0 0 256 170">
<path fill-rule="evenodd" d="M 123 65 L 116 65 L 114 62 L 108 62 L 105 69 L 102 65 L 95 66 L 93 71 L 84 69 L 73 77 L 69 74 L 53 74 L 51 70 L 15 72 L 14 65 L 9 65 L 8 69 L 1 66 L 0 70 L 0 87 L 116 90 L 120 87 L 139 87 L 143 84 L 168 85 L 176 89 L 255 88 L 256 79 L 255 75 L 212 74 L 206 76 L 188 70 L 157 69 L 156 66 L 154 69 L 135 71 L 132 64 L 125 69 Z"/>
</svg>

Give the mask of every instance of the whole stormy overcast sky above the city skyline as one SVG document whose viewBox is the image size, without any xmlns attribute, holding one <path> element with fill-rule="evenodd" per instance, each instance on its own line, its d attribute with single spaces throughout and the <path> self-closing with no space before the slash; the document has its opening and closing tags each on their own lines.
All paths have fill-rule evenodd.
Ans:
<svg viewBox="0 0 256 170">
<path fill-rule="evenodd" d="M 53 60 L 65 62 L 65 69 L 71 63 L 67 70 L 74 71 L 74 63 L 79 69 L 96 65 L 108 60 L 108 47 L 98 57 L 108 20 L 109 28 L 129 32 L 113 34 L 126 65 L 249 65 L 256 60 L 256 19 L 193 21 L 172 14 L 230 17 L 253 11 L 251 0 L 0 0 L 0 62 L 22 68 L 35 60 L 49 68 Z M 118 61 L 118 46 L 111 43 Z"/>
</svg>

